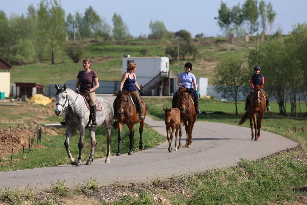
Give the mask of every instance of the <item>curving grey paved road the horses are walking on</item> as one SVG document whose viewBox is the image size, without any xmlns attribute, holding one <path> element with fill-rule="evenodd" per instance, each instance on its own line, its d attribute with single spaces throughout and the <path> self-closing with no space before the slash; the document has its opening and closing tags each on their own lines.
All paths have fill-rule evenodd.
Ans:
<svg viewBox="0 0 307 205">
<path fill-rule="evenodd" d="M 104 96 L 109 102 L 111 95 Z M 146 116 L 145 122 L 165 136 L 164 121 L 152 120 Z M 66 185 L 74 187 L 84 179 L 96 178 L 100 185 L 114 182 L 142 182 L 157 176 L 167 177 L 199 172 L 208 168 L 233 166 L 240 158 L 256 160 L 287 148 L 295 148 L 298 143 L 283 136 L 262 131 L 261 141 L 250 140 L 250 128 L 212 122 L 196 122 L 193 130 L 192 148 L 183 147 L 177 152 L 168 152 L 168 142 L 155 148 L 134 153 L 132 156 L 111 156 L 110 164 L 105 158 L 95 159 L 92 165 L 74 167 L 70 164 L 0 173 L 0 188 L 26 187 L 50 188 L 51 182 L 65 180 Z M 185 142 L 185 134 L 183 142 Z M 113 142 L 117 143 L 117 142 Z M 183 143 L 184 145 L 185 143 Z M 63 147 L 64 149 L 64 147 Z"/>
</svg>

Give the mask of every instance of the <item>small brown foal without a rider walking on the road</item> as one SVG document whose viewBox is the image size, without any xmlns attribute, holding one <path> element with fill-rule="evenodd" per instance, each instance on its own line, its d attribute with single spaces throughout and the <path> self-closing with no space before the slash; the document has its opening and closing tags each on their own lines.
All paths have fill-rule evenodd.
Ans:
<svg viewBox="0 0 307 205">
<path fill-rule="evenodd" d="M 175 151 L 177 151 L 177 136 L 179 130 L 179 145 L 178 149 L 181 149 L 181 136 L 182 136 L 182 123 L 180 122 L 180 111 L 177 108 L 166 108 L 165 112 L 165 126 L 166 126 L 166 139 L 169 142 L 169 152 L 172 152 L 172 140 L 175 132 Z"/>
</svg>

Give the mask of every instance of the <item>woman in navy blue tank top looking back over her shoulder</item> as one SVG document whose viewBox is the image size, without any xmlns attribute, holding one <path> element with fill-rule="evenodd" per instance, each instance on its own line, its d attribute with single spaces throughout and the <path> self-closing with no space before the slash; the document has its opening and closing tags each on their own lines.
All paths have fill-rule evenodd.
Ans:
<svg viewBox="0 0 307 205">
<path fill-rule="evenodd" d="M 135 63 L 129 63 L 127 67 L 127 72 L 122 75 L 122 81 L 120 82 L 120 85 L 119 85 L 119 91 L 122 91 L 123 89 L 126 91 L 130 91 L 130 93 L 137 98 L 139 119 L 143 120 L 144 116 L 143 116 L 143 110 L 142 110 L 142 102 L 138 94 L 138 91 L 139 91 L 140 94 L 143 95 L 143 91 L 140 89 L 136 81 L 136 75 L 134 73 L 135 70 L 136 70 Z M 116 106 L 113 105 L 113 109 L 114 109 L 113 119 L 116 119 L 115 107 Z"/>
</svg>

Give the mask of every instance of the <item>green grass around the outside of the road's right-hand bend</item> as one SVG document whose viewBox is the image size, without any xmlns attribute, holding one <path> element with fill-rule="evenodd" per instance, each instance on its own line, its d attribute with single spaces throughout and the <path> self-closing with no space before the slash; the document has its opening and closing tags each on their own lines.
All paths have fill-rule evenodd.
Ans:
<svg viewBox="0 0 307 205">
<path fill-rule="evenodd" d="M 146 98 L 147 112 L 155 119 L 164 120 L 162 107 L 171 106 L 171 98 Z M 290 110 L 290 104 L 287 105 Z M 301 150 L 284 152 L 264 160 L 241 162 L 230 168 L 204 171 L 200 174 L 182 176 L 182 186 L 188 187 L 190 197 L 165 194 L 174 204 L 282 204 L 307 197 L 307 108 L 301 104 L 299 117 L 278 114 L 278 104 L 270 103 L 272 112 L 266 112 L 262 129 L 277 133 L 300 143 Z M 239 115 L 235 115 L 233 101 L 200 99 L 201 111 L 198 121 L 211 121 L 237 125 L 244 114 L 244 102 L 238 104 Z M 213 114 L 214 112 L 224 114 Z M 242 126 L 250 127 L 248 122 Z M 293 126 L 300 130 L 294 132 Z M 306 199 L 305 199 L 306 203 Z"/>
</svg>

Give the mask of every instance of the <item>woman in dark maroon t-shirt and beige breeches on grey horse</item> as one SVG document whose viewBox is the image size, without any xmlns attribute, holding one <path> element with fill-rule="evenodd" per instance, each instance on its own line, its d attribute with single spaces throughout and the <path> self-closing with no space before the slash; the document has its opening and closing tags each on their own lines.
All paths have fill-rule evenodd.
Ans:
<svg viewBox="0 0 307 205">
<path fill-rule="evenodd" d="M 89 58 L 83 60 L 83 71 L 80 71 L 76 81 L 76 92 L 83 93 L 84 96 L 89 97 L 91 112 L 93 119 L 91 125 L 97 125 L 96 122 L 96 93 L 94 92 L 99 87 L 99 81 L 95 71 L 91 70 L 92 61 Z M 95 83 L 95 86 L 94 84 Z M 79 90 L 80 85 L 80 90 Z"/>
</svg>

